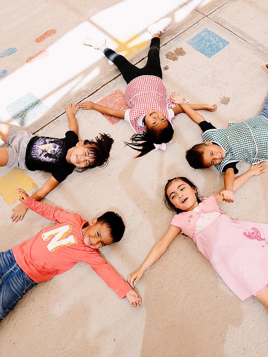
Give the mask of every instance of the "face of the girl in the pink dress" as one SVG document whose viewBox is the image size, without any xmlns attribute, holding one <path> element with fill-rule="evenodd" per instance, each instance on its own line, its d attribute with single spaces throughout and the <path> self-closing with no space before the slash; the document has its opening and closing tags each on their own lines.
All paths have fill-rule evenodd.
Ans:
<svg viewBox="0 0 268 357">
<path fill-rule="evenodd" d="M 191 211 L 198 206 L 194 188 L 180 178 L 175 178 L 167 188 L 172 205 L 182 211 Z"/>
</svg>

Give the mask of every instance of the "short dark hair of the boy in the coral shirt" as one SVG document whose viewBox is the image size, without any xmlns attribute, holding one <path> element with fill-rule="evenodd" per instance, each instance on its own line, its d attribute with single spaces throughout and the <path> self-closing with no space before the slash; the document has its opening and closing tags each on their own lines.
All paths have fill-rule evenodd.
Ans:
<svg viewBox="0 0 268 357">
<path fill-rule="evenodd" d="M 109 228 L 113 243 L 121 240 L 125 232 L 125 225 L 121 216 L 115 212 L 108 211 L 98 217 L 98 222 L 100 224 L 106 224 Z"/>
</svg>

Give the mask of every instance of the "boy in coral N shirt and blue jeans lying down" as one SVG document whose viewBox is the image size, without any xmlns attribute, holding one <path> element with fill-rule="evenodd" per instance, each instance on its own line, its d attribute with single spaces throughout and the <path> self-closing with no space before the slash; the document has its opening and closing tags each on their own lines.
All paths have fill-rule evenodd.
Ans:
<svg viewBox="0 0 268 357">
<path fill-rule="evenodd" d="M 27 208 L 56 224 L 0 253 L 0 321 L 37 283 L 64 273 L 81 261 L 88 263 L 119 297 L 126 296 L 131 306 L 140 306 L 138 293 L 98 253 L 100 247 L 123 237 L 125 225 L 118 214 L 105 212 L 88 222 L 77 213 L 33 200 L 20 188 L 18 191 Z"/>
</svg>

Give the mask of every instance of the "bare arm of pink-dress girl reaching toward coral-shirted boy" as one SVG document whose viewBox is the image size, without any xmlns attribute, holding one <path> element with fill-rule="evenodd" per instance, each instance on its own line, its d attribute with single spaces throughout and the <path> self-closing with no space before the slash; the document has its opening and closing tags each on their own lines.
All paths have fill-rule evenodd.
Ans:
<svg viewBox="0 0 268 357">
<path fill-rule="evenodd" d="M 180 228 L 175 226 L 170 226 L 167 233 L 160 239 L 158 243 L 150 251 L 148 257 L 142 263 L 137 271 L 128 275 L 128 283 L 134 287 L 136 283 L 140 280 L 143 273 L 146 269 L 148 269 L 155 261 L 160 258 L 160 256 L 167 250 L 167 247 L 173 241 L 173 239 L 179 234 L 181 231 Z"/>
</svg>

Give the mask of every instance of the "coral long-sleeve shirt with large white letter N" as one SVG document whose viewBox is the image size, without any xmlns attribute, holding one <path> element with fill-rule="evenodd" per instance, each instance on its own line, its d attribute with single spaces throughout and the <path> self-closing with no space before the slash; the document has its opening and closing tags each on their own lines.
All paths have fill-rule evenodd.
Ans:
<svg viewBox="0 0 268 357">
<path fill-rule="evenodd" d="M 30 196 L 24 205 L 56 222 L 55 226 L 43 228 L 36 236 L 12 249 L 16 262 L 31 279 L 37 283 L 49 280 L 69 270 L 77 262 L 85 262 L 119 297 L 126 296 L 131 290 L 129 284 L 105 262 L 98 249 L 84 244 L 82 227 L 86 220 L 77 213 L 37 202 Z"/>
</svg>

